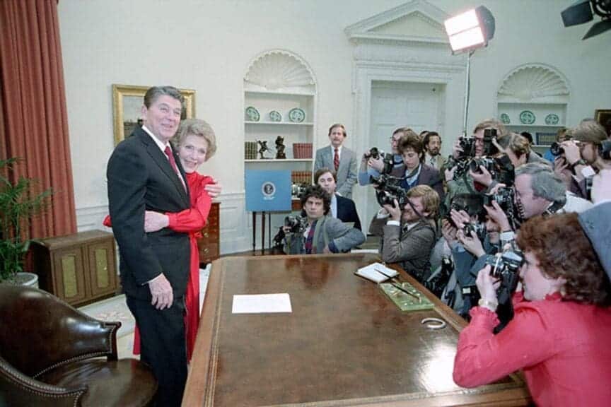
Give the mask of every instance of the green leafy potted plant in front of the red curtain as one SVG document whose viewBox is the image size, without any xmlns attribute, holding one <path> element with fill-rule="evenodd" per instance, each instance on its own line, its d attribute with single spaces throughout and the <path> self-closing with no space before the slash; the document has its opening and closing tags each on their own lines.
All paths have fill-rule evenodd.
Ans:
<svg viewBox="0 0 611 407">
<path fill-rule="evenodd" d="M 30 248 L 30 221 L 47 204 L 52 189 L 35 190 L 35 180 L 15 179 L 14 168 L 19 158 L 0 160 L 0 282 L 28 284 L 37 276 L 23 273 L 25 255 Z M 13 180 L 14 179 L 14 180 Z M 28 276 L 28 274 L 30 276 Z"/>
</svg>

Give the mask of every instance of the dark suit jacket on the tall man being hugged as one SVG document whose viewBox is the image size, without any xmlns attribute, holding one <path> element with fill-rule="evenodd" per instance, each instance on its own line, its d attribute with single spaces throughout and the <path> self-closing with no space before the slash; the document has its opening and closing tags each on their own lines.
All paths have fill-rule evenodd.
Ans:
<svg viewBox="0 0 611 407">
<path fill-rule="evenodd" d="M 178 156 L 175 158 L 186 179 Z M 125 293 L 150 299 L 146 283 L 163 273 L 172 285 L 174 297 L 182 297 L 189 276 L 189 236 L 168 228 L 144 232 L 144 211 L 165 213 L 190 208 L 188 190 L 167 156 L 139 128 L 112 152 L 106 176 L 112 232 L 119 244 Z"/>
</svg>

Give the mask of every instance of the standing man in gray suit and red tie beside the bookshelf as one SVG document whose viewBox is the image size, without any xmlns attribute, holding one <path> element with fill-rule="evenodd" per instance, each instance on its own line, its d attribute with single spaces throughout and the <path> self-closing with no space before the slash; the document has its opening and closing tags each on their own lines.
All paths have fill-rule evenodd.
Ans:
<svg viewBox="0 0 611 407">
<path fill-rule="evenodd" d="M 322 167 L 335 170 L 337 174 L 336 193 L 346 198 L 351 198 L 352 187 L 356 184 L 357 157 L 354 151 L 342 146 L 346 136 L 346 128 L 343 124 L 336 123 L 329 128 L 331 145 L 319 148 L 316 151 L 314 172 Z"/>
</svg>

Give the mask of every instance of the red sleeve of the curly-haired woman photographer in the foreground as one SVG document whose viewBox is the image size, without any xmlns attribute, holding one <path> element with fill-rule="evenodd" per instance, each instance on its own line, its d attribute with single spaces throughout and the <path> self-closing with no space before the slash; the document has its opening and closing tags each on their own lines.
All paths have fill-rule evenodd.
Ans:
<svg viewBox="0 0 611 407">
<path fill-rule="evenodd" d="M 524 304 L 524 303 L 522 303 Z M 454 360 L 454 382 L 477 387 L 494 382 L 553 355 L 554 335 L 536 307 L 520 305 L 499 334 L 496 314 L 484 307 L 470 311 L 471 322 L 460 332 Z"/>
</svg>

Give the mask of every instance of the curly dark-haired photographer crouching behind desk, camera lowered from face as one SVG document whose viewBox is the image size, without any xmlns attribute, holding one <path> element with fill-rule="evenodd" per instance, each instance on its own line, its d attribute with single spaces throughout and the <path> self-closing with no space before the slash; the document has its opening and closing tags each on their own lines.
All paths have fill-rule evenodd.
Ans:
<svg viewBox="0 0 611 407">
<path fill-rule="evenodd" d="M 331 197 L 320 186 L 308 187 L 301 195 L 305 219 L 285 225 L 286 254 L 344 253 L 365 241 L 365 235 L 337 218 L 327 216 Z"/>
</svg>

